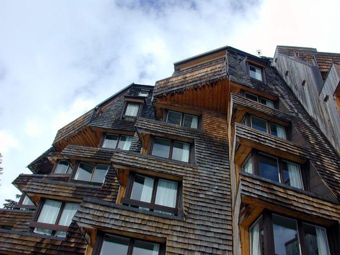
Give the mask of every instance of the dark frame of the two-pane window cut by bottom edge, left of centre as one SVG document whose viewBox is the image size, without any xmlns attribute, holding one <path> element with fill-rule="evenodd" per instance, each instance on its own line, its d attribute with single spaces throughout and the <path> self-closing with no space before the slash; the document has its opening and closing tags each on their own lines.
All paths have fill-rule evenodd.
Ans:
<svg viewBox="0 0 340 255">
<path fill-rule="evenodd" d="M 97 234 L 97 237 L 96 237 L 96 241 L 95 241 L 95 244 L 93 246 L 93 251 L 92 251 L 91 255 L 100 255 L 100 252 L 102 250 L 103 243 L 104 243 L 104 236 L 106 234 L 107 235 L 111 235 L 111 236 L 117 236 L 117 237 L 122 237 L 122 238 L 130 239 L 127 255 L 132 255 L 133 254 L 134 243 L 135 243 L 136 240 L 142 241 L 142 242 L 158 244 L 158 245 L 160 245 L 160 250 L 159 250 L 158 255 L 166 255 L 165 244 L 163 244 L 163 243 L 149 241 L 149 240 L 144 240 L 144 239 L 140 239 L 140 238 L 134 238 L 134 237 L 127 237 L 127 236 L 117 235 L 117 234 L 114 234 L 114 233 L 105 233 L 105 232 L 102 232 L 102 231 L 98 231 L 98 234 Z"/>
</svg>

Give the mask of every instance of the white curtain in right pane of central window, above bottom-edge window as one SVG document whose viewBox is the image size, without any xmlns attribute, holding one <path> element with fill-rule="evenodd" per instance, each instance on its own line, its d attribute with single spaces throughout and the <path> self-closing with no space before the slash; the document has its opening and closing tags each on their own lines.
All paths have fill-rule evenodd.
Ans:
<svg viewBox="0 0 340 255">
<path fill-rule="evenodd" d="M 175 208 L 177 182 L 160 179 L 158 181 L 155 204 Z"/>
</svg>

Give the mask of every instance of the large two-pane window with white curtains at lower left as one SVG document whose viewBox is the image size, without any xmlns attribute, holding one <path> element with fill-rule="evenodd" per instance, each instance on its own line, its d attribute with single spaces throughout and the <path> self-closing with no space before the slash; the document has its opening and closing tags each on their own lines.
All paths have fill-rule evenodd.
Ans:
<svg viewBox="0 0 340 255">
<path fill-rule="evenodd" d="M 65 237 L 79 204 L 46 199 L 40 208 L 36 222 L 30 223 L 33 232 L 49 236 Z"/>
</svg>

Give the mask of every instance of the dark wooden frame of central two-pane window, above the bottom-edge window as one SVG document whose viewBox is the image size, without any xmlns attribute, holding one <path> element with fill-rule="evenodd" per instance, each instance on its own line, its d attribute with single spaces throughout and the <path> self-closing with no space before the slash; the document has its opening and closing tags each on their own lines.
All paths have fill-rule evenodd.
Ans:
<svg viewBox="0 0 340 255">
<path fill-rule="evenodd" d="M 150 203 L 139 201 L 139 200 L 134 200 L 134 199 L 130 198 L 136 174 L 144 176 L 144 177 L 149 177 L 149 178 L 153 178 L 154 179 L 153 193 L 152 193 L 152 197 L 151 197 L 151 202 Z M 157 187 L 158 187 L 159 179 L 168 180 L 168 179 L 157 177 L 157 176 L 152 176 L 152 175 L 146 175 L 146 174 L 139 174 L 139 173 L 131 172 L 130 175 L 129 175 L 129 178 L 128 178 L 127 185 L 126 185 L 125 195 L 124 195 L 124 197 L 121 198 L 120 202 L 123 205 L 133 206 L 133 207 L 137 207 L 137 208 L 138 207 L 149 208 L 151 212 L 156 210 L 156 211 L 162 211 L 162 212 L 171 213 L 174 216 L 180 216 L 181 213 L 182 213 L 182 209 L 180 207 L 180 197 L 181 197 L 181 194 L 182 194 L 182 183 L 179 182 L 179 181 L 169 180 L 169 181 L 172 181 L 172 182 L 177 182 L 177 194 L 176 194 L 176 203 L 175 203 L 176 206 L 173 208 L 173 207 L 168 207 L 168 206 L 162 206 L 162 205 L 155 204 L 156 193 L 157 193 Z M 162 213 L 160 213 L 160 215 L 162 215 Z"/>
</svg>

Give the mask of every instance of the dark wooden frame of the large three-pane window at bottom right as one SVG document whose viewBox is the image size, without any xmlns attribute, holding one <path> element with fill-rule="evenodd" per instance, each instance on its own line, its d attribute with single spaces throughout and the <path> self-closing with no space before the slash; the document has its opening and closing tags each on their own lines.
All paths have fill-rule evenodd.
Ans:
<svg viewBox="0 0 340 255">
<path fill-rule="evenodd" d="M 298 237 L 299 237 L 299 244 L 300 244 L 300 252 L 301 255 L 307 255 L 307 249 L 306 249 L 306 244 L 305 244 L 305 239 L 304 239 L 304 232 L 303 232 L 303 223 L 306 224 L 310 224 L 316 227 L 321 227 L 324 228 L 326 230 L 326 236 L 327 236 L 327 242 L 328 242 L 328 246 L 330 248 L 330 253 L 331 255 L 333 255 L 333 251 L 332 251 L 332 237 L 330 236 L 329 232 L 331 231 L 330 228 L 325 227 L 325 226 L 321 226 L 319 224 L 315 224 L 313 222 L 309 222 L 309 221 L 304 221 L 301 219 L 297 219 L 297 218 L 293 218 L 291 216 L 287 216 L 281 213 L 277 213 L 277 212 L 273 212 L 270 210 L 265 209 L 263 211 L 262 214 L 260 214 L 252 224 L 250 224 L 249 228 L 248 228 L 248 237 L 250 237 L 250 228 L 253 226 L 253 224 L 262 216 L 262 221 L 263 221 L 263 243 L 264 243 L 264 254 L 265 255 L 272 255 L 275 254 L 275 243 L 274 243 L 274 227 L 273 227 L 273 214 L 276 214 L 278 216 L 281 217 L 285 217 L 285 218 L 289 218 L 292 220 L 295 220 L 297 223 L 297 231 L 298 231 Z M 248 240 L 249 245 L 251 247 L 250 244 L 250 238 Z M 249 247 L 249 248 L 250 248 Z"/>
</svg>

